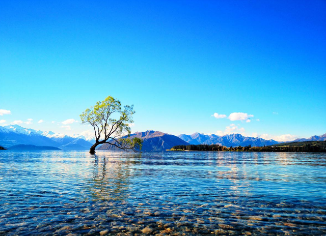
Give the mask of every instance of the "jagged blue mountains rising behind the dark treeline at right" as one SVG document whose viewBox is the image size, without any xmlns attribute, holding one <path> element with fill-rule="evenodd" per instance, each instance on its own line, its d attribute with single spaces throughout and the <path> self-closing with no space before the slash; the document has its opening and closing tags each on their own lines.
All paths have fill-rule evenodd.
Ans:
<svg viewBox="0 0 326 236">
<path fill-rule="evenodd" d="M 182 140 L 190 143 L 190 144 L 219 144 L 223 146 L 268 146 L 278 143 L 273 139 L 265 140 L 262 138 L 254 138 L 254 137 L 245 137 L 241 134 L 227 134 L 224 136 L 219 136 L 215 134 L 201 134 L 194 133 L 191 135 L 181 134 L 178 136 Z"/>
</svg>

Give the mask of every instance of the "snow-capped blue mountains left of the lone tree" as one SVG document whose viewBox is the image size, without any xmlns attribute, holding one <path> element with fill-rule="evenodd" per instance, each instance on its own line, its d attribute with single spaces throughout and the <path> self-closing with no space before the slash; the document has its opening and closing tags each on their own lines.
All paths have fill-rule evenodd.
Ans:
<svg viewBox="0 0 326 236">
<path fill-rule="evenodd" d="M 10 147 L 18 144 L 55 146 L 63 150 L 88 150 L 92 145 L 83 138 L 52 131 L 36 131 L 19 125 L 0 126 L 0 145 Z"/>
</svg>

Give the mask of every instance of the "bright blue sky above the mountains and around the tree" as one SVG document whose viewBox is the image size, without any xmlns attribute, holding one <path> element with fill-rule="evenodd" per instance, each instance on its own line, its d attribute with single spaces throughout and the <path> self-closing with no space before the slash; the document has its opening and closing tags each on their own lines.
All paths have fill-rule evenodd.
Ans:
<svg viewBox="0 0 326 236">
<path fill-rule="evenodd" d="M 0 125 L 85 133 L 64 121 L 111 95 L 134 105 L 132 131 L 321 135 L 325 12 L 322 0 L 1 1 Z"/>
</svg>

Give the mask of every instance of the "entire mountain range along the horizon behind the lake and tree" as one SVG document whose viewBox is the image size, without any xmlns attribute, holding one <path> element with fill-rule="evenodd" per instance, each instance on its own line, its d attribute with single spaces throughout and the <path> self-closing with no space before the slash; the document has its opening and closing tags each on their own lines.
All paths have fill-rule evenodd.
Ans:
<svg viewBox="0 0 326 236">
<path fill-rule="evenodd" d="M 127 137 L 127 136 L 125 136 Z M 189 144 L 219 144 L 227 147 L 230 146 L 268 146 L 278 142 L 270 139 L 265 140 L 258 137 L 245 137 L 241 134 L 227 134 L 219 136 L 215 134 L 194 133 L 191 135 L 181 134 L 178 136 L 162 133 L 159 131 L 148 130 L 145 132 L 135 132 L 130 134 L 130 138 L 138 137 L 143 139 L 142 151 L 165 151 L 176 145 Z M 295 142 L 302 141 L 324 141 L 326 134 L 312 136 L 310 138 L 295 139 Z M 19 125 L 0 126 L 0 145 L 11 147 L 14 145 L 37 145 L 52 146 L 62 150 L 89 150 L 94 140 L 82 135 L 68 136 L 51 131 L 36 131 L 29 128 L 23 128 Z M 115 146 L 104 143 L 98 147 L 98 150 L 120 150 Z"/>
</svg>

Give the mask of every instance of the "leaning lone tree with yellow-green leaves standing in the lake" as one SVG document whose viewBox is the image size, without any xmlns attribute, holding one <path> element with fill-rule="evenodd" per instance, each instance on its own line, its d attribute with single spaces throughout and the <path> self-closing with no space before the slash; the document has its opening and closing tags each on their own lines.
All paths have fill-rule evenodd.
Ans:
<svg viewBox="0 0 326 236">
<path fill-rule="evenodd" d="M 142 148 L 142 139 L 130 139 L 130 123 L 133 123 L 133 106 L 121 108 L 119 100 L 111 96 L 102 102 L 97 102 L 94 107 L 87 108 L 80 115 L 83 124 L 90 124 L 94 128 L 95 143 L 91 146 L 90 154 L 95 154 L 95 148 L 99 144 L 108 143 L 122 150 L 136 152 Z M 122 138 L 123 136 L 126 136 Z"/>
</svg>

